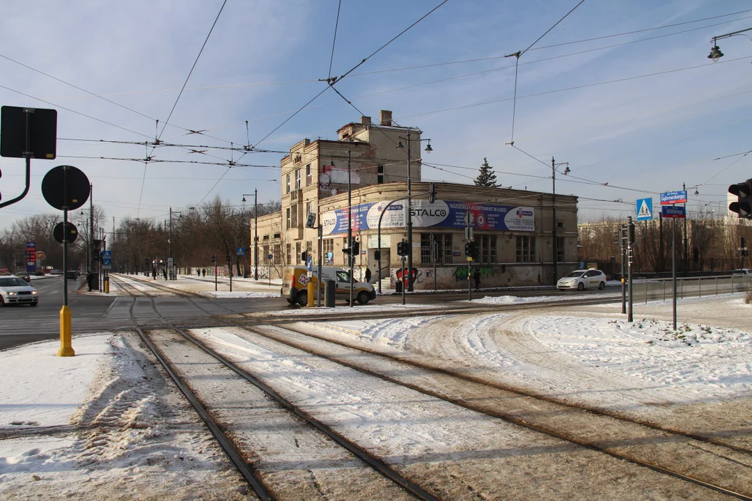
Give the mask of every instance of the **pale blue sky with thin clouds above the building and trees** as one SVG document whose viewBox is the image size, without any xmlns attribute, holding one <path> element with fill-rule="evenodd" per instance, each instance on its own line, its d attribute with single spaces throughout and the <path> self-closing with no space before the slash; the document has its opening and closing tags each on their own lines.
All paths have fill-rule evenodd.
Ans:
<svg viewBox="0 0 752 501">
<path fill-rule="evenodd" d="M 582 221 L 626 218 L 638 198 L 657 208 L 682 183 L 690 210 L 726 213 L 729 184 L 752 177 L 752 155 L 736 155 L 752 149 L 752 38 L 707 57 L 712 37 L 752 28 L 747 2 L 440 4 L 3 2 L 0 104 L 55 108 L 58 142 L 0 228 L 54 212 L 41 180 L 60 164 L 86 173 L 108 222 L 161 221 L 215 196 L 240 205 L 254 189 L 279 200 L 290 146 L 379 110 L 431 139 L 423 180 L 472 183 L 488 158 L 502 186 L 550 192 L 555 158 L 556 193 L 580 197 Z M 504 56 L 525 50 L 515 71 Z M 320 81 L 345 74 L 335 89 L 351 104 Z M 156 138 L 185 147 L 144 144 Z M 23 169 L 0 158 L 2 201 L 23 190 Z"/>
</svg>

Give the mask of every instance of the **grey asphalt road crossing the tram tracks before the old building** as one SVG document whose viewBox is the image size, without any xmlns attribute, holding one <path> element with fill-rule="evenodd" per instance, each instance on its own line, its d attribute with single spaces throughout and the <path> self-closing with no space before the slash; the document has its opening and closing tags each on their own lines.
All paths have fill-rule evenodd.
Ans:
<svg viewBox="0 0 752 501">
<path fill-rule="evenodd" d="M 77 333 L 93 333 L 111 331 L 132 327 L 130 308 L 133 298 L 129 296 L 107 297 L 101 295 L 79 294 L 77 289 L 83 284 L 81 280 L 68 280 L 68 307 L 71 309 L 71 328 L 73 335 Z M 60 308 L 62 306 L 62 276 L 32 280 L 32 285 L 39 291 L 39 305 L 36 307 L 5 306 L 0 308 L 0 350 L 9 349 L 26 343 L 41 340 L 59 339 Z M 83 291 L 86 290 L 84 286 Z M 587 291 L 589 294 L 613 296 L 614 288 L 607 291 Z M 571 292 L 552 290 L 516 290 L 516 291 L 473 291 L 473 297 L 500 296 L 513 294 L 516 296 L 566 296 Z M 582 294 L 582 293 L 579 293 Z M 456 300 L 466 300 L 467 292 L 444 292 L 408 294 L 407 303 L 445 303 Z M 177 321 L 205 318 L 207 313 L 197 308 L 184 297 L 155 297 L 156 307 L 166 318 Z M 258 297 L 253 299 L 242 297 L 213 298 L 211 300 L 193 298 L 201 306 L 217 315 L 226 315 L 228 310 L 234 312 L 278 311 L 299 306 L 290 306 L 280 297 Z M 613 299 L 612 299 L 613 300 Z M 402 303 L 400 294 L 379 296 L 377 304 Z M 338 301 L 337 306 L 346 303 Z M 353 308 L 356 315 L 357 303 Z M 138 322 L 159 322 L 159 317 L 153 311 L 151 300 L 138 297 L 134 306 L 135 317 Z"/>
</svg>

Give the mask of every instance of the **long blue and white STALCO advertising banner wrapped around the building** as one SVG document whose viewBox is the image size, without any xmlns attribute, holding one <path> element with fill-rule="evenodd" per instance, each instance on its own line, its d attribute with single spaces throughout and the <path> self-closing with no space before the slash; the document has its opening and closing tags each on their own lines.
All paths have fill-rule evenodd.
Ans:
<svg viewBox="0 0 752 501">
<path fill-rule="evenodd" d="M 375 230 L 389 202 L 370 202 L 353 206 L 352 214 L 347 209 L 330 210 L 324 213 L 321 222 L 323 234 L 347 232 L 347 219 L 353 231 Z M 484 203 L 437 200 L 413 201 L 413 228 L 465 228 L 465 218 L 470 214 L 472 228 L 490 231 L 535 231 L 535 210 L 532 207 L 516 207 Z M 381 229 L 405 228 L 407 201 L 396 201 L 386 208 L 381 217 Z"/>
</svg>

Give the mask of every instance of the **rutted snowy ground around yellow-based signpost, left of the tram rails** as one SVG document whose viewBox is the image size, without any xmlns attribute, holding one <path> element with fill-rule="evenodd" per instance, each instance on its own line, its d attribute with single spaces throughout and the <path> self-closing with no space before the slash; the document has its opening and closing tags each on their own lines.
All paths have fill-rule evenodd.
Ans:
<svg viewBox="0 0 752 501">
<path fill-rule="evenodd" d="M 0 352 L 0 498 L 248 499 L 132 334 L 58 346 Z"/>
</svg>

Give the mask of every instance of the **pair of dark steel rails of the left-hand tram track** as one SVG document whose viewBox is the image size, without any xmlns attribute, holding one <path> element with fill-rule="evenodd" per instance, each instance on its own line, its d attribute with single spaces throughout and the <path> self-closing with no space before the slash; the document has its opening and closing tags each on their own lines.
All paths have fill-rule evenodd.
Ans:
<svg viewBox="0 0 752 501">
<path fill-rule="evenodd" d="M 341 445 L 341 447 L 348 451 L 350 454 L 353 454 L 353 456 L 357 457 L 359 460 L 362 460 L 363 463 L 371 467 L 371 469 L 374 469 L 374 471 L 383 475 L 384 478 L 392 481 L 394 484 L 402 488 L 402 490 L 405 490 L 406 493 L 409 493 L 416 499 L 423 499 L 425 501 L 438 501 L 438 497 L 434 496 L 432 493 L 429 493 L 427 490 L 423 489 L 423 487 L 420 487 L 408 478 L 405 478 L 403 475 L 401 475 L 399 472 L 385 463 L 384 460 L 381 460 L 380 458 L 374 456 L 369 451 L 366 451 L 365 448 L 360 447 L 355 442 L 352 442 L 346 437 L 342 436 L 332 427 L 329 427 L 322 421 L 314 418 L 314 416 L 310 415 L 308 412 L 305 412 L 305 410 L 303 410 L 299 406 L 296 406 L 290 400 L 284 398 L 281 394 L 277 393 L 277 391 L 274 391 L 273 388 L 266 385 L 255 376 L 247 373 L 247 371 L 242 370 L 235 363 L 229 361 L 227 358 L 224 358 L 217 352 L 214 352 L 214 350 L 209 349 L 207 346 L 205 346 L 204 343 L 201 343 L 200 340 L 196 339 L 196 337 L 193 337 L 190 333 L 187 333 L 180 327 L 174 326 L 174 324 L 172 324 L 171 321 L 168 320 L 168 318 L 162 316 L 159 313 L 159 310 L 156 309 L 156 303 L 152 296 L 149 296 L 148 294 L 133 294 L 132 291 L 135 291 L 136 289 L 133 288 L 132 285 L 126 283 L 123 280 L 117 280 L 117 282 L 120 287 L 122 287 L 123 290 L 131 295 L 134 299 L 130 309 L 133 327 L 138 332 L 141 339 L 144 340 L 144 343 L 146 343 L 151 352 L 153 352 L 154 356 L 159 361 L 159 364 L 162 365 L 172 381 L 175 383 L 175 385 L 177 385 L 181 393 L 183 393 L 183 395 L 186 397 L 186 400 L 190 402 L 191 406 L 193 406 L 193 409 L 195 409 L 202 420 L 205 421 L 205 424 L 207 424 L 207 427 L 211 431 L 212 435 L 214 435 L 214 437 L 217 439 L 220 447 L 223 449 L 223 451 L 225 451 L 232 463 L 235 464 L 235 467 L 245 478 L 249 486 L 253 489 L 256 495 L 259 496 L 259 499 L 266 500 L 276 498 L 263 483 L 262 479 L 259 476 L 259 472 L 244 460 L 244 454 L 230 438 L 228 431 L 225 430 L 222 425 L 217 423 L 217 420 L 215 420 L 212 416 L 211 410 L 207 409 L 207 406 L 205 406 L 205 404 L 202 403 L 199 397 L 196 396 L 196 393 L 190 388 L 190 386 L 187 385 L 182 378 L 180 378 L 179 373 L 174 369 L 170 361 L 165 358 L 162 352 L 157 348 L 157 346 L 155 346 L 155 343 L 150 340 L 148 331 L 141 329 L 138 322 L 135 320 L 135 317 L 133 316 L 133 306 L 135 306 L 137 297 L 142 297 L 144 295 L 149 297 L 154 312 L 159 315 L 159 317 L 162 319 L 162 322 L 170 330 L 179 333 L 181 337 L 190 341 L 190 343 L 193 343 L 193 345 L 195 345 L 197 348 L 201 349 L 207 355 L 210 355 L 212 358 L 220 362 L 220 364 L 223 364 L 224 367 L 232 370 L 235 374 L 237 374 L 247 382 L 250 382 L 256 388 L 259 388 L 259 390 L 263 391 L 266 395 L 268 395 L 268 397 L 271 397 L 272 400 L 276 401 L 278 405 L 282 406 L 288 412 L 296 415 L 298 418 L 302 418 L 304 421 L 310 424 L 311 427 L 323 433 L 338 445 Z"/>
</svg>

